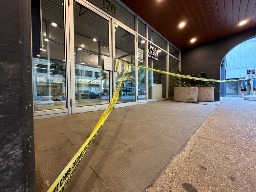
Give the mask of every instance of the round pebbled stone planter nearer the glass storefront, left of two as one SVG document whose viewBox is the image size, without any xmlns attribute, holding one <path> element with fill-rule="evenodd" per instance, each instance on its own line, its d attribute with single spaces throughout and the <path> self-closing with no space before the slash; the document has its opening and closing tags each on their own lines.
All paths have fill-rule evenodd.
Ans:
<svg viewBox="0 0 256 192">
<path fill-rule="evenodd" d="M 173 100 L 197 102 L 198 87 L 174 87 Z"/>
</svg>

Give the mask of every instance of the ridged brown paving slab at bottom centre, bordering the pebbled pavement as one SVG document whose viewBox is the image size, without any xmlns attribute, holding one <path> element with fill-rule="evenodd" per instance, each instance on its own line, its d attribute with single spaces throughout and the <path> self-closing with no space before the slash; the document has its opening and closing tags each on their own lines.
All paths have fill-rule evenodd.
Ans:
<svg viewBox="0 0 256 192">
<path fill-rule="evenodd" d="M 155 178 L 157 170 L 178 149 L 169 140 L 147 135 L 114 152 L 111 159 L 101 159 L 91 167 L 112 192 L 144 191 L 148 181 Z"/>
</svg>

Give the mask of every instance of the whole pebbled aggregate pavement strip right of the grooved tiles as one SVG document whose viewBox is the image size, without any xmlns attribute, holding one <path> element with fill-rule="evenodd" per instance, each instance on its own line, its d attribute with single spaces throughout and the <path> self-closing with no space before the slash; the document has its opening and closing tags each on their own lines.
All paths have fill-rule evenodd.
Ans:
<svg viewBox="0 0 256 192">
<path fill-rule="evenodd" d="M 147 189 L 158 191 L 256 192 L 256 101 L 224 98 Z"/>
</svg>

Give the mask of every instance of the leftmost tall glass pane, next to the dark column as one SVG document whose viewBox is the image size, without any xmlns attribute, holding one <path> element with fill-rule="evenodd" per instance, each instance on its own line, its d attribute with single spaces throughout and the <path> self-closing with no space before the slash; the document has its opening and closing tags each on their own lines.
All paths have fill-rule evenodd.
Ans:
<svg viewBox="0 0 256 192">
<path fill-rule="evenodd" d="M 37 28 L 40 25 L 32 25 L 34 111 L 67 107 L 62 1 L 42 0 L 41 7 L 42 32 Z M 55 26 L 51 25 L 53 22 Z M 48 34 L 50 39 L 46 38 Z M 40 35 L 44 36 L 42 45 L 36 38 Z"/>
</svg>

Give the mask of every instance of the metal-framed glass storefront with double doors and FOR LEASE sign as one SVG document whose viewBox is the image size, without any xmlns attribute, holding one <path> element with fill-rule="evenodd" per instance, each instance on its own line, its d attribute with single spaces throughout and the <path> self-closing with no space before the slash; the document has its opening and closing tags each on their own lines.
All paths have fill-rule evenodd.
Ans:
<svg viewBox="0 0 256 192">
<path fill-rule="evenodd" d="M 124 107 L 173 96 L 180 51 L 120 1 L 32 1 L 34 117 L 105 109 L 120 77 Z"/>
</svg>

